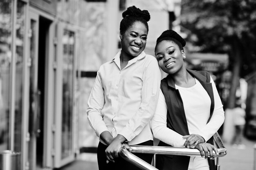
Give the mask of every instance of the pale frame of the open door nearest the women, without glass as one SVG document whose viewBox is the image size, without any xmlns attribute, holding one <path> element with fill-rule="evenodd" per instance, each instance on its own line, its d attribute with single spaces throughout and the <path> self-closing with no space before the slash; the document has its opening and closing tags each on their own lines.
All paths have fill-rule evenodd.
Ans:
<svg viewBox="0 0 256 170">
<path fill-rule="evenodd" d="M 66 24 L 63 22 L 58 23 L 58 29 L 57 30 L 57 58 L 56 58 L 56 84 L 55 84 L 55 111 L 54 113 L 56 114 L 55 118 L 55 128 L 56 128 L 56 135 L 55 135 L 55 160 L 54 160 L 54 168 L 60 168 L 61 166 L 66 165 L 67 163 L 70 163 L 74 161 L 75 159 L 75 153 L 76 153 L 76 148 L 75 148 L 75 96 L 74 96 L 74 87 L 75 87 L 75 81 L 73 81 L 73 88 L 72 88 L 72 155 L 69 157 L 66 157 L 64 159 L 61 158 L 61 135 L 62 135 L 62 96 L 63 96 L 63 44 L 62 44 L 62 37 L 64 30 L 72 31 L 74 32 L 74 60 L 73 60 L 73 78 L 76 78 L 76 59 L 77 59 L 77 33 L 78 31 L 74 29 L 73 26 L 70 24 Z"/>
</svg>

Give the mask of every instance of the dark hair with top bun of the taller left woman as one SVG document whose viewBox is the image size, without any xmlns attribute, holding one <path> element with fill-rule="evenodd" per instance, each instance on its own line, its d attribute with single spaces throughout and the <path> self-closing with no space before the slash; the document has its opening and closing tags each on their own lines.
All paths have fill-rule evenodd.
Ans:
<svg viewBox="0 0 256 170">
<path fill-rule="evenodd" d="M 120 22 L 120 34 L 124 34 L 125 31 L 132 26 L 134 22 L 143 23 L 148 31 L 148 21 L 150 20 L 150 14 L 147 10 L 141 11 L 139 8 L 132 6 L 128 7 L 126 11 L 122 13 L 123 19 Z"/>
</svg>

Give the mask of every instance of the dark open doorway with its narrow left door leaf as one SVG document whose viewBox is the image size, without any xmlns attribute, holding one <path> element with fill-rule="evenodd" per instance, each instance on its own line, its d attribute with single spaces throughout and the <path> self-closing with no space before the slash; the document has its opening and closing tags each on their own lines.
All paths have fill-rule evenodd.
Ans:
<svg viewBox="0 0 256 170">
<path fill-rule="evenodd" d="M 29 11 L 29 167 L 41 170 L 45 167 L 47 111 L 47 58 L 49 52 L 49 28 L 51 21 Z M 50 139 L 48 139 L 50 140 Z"/>
</svg>

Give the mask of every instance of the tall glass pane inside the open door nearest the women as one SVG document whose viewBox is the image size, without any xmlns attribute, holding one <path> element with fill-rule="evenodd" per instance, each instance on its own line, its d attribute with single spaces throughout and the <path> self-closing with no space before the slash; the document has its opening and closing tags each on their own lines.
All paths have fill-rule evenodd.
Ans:
<svg viewBox="0 0 256 170">
<path fill-rule="evenodd" d="M 73 81 L 74 81 L 74 32 L 64 31 L 63 38 L 63 103 L 62 103 L 62 152 L 61 158 L 72 154 Z"/>
</svg>

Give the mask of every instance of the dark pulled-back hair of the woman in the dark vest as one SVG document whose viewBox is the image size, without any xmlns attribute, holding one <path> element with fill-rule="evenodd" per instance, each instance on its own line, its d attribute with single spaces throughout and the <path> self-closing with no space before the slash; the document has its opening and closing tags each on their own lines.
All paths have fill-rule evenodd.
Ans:
<svg viewBox="0 0 256 170">
<path fill-rule="evenodd" d="M 177 44 L 180 48 L 180 50 L 183 50 L 183 47 L 186 45 L 186 41 L 175 31 L 173 30 L 166 30 L 164 31 L 158 38 L 157 38 L 157 44 L 163 40 L 172 41 L 175 44 Z"/>
</svg>

